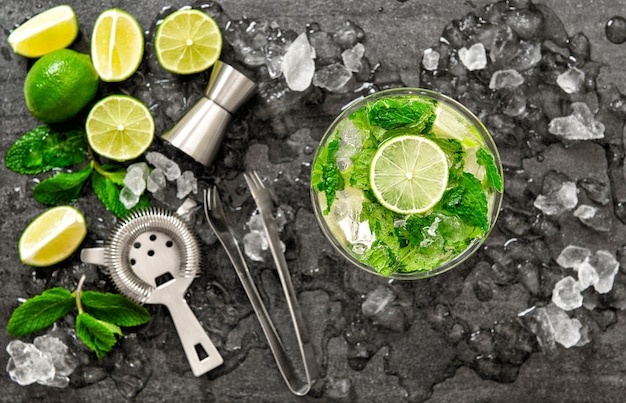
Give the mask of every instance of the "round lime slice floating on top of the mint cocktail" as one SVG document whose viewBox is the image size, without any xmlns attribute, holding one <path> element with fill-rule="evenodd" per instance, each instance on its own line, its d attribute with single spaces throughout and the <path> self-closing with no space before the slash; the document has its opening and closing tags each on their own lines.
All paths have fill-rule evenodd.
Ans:
<svg viewBox="0 0 626 403">
<path fill-rule="evenodd" d="M 424 213 L 448 184 L 448 161 L 432 141 L 414 135 L 393 137 L 374 154 L 372 192 L 381 205 L 401 214 Z"/>
</svg>

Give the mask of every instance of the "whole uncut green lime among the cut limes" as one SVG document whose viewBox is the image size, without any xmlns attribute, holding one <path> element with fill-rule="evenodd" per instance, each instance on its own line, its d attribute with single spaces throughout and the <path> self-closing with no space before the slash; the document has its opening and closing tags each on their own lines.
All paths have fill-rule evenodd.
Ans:
<svg viewBox="0 0 626 403">
<path fill-rule="evenodd" d="M 24 82 L 30 113 L 44 123 L 75 116 L 98 91 L 98 73 L 89 55 L 59 49 L 37 60 Z"/>
</svg>

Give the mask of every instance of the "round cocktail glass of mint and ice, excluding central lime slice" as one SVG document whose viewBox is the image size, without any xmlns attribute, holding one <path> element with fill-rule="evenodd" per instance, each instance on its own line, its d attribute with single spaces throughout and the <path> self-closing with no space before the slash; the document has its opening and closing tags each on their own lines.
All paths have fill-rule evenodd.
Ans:
<svg viewBox="0 0 626 403">
<path fill-rule="evenodd" d="M 418 122 L 420 112 L 413 114 L 411 105 L 422 108 L 429 103 L 436 118 L 434 123 L 427 122 L 420 132 L 424 122 Z M 369 127 L 367 116 L 374 116 Z M 398 119 L 397 124 L 394 119 Z M 441 145 L 451 168 L 448 188 L 429 211 L 391 212 L 390 227 L 386 214 L 389 211 L 384 211 L 385 207 L 377 202 L 377 196 L 363 178 L 367 176 L 364 167 L 370 164 L 371 170 L 371 159 L 368 162 L 367 153 L 361 152 L 372 147 L 371 142 L 376 143 L 377 139 L 384 139 L 378 144 L 380 147 L 389 138 L 407 134 L 425 136 Z M 462 162 L 454 159 L 454 150 L 457 156 L 462 155 Z M 360 174 L 355 174 L 357 169 Z M 482 200 L 477 207 L 473 206 L 471 190 L 463 186 L 454 190 L 460 183 L 455 179 L 459 176 L 474 177 L 469 180 L 474 191 L 476 183 L 480 183 L 484 200 L 482 196 L 476 197 Z M 496 144 L 471 111 L 437 92 L 397 88 L 353 101 L 333 121 L 313 159 L 311 199 L 322 232 L 349 262 L 370 273 L 412 280 L 450 270 L 480 248 L 500 211 L 502 178 Z M 477 216 L 473 217 L 474 214 Z M 379 219 L 381 216 L 387 218 Z M 421 228 L 419 223 L 423 224 Z M 384 231 L 385 236 L 381 235 Z M 397 235 L 396 239 L 389 234 Z M 387 244 L 386 240 L 390 242 Z M 438 249 L 439 246 L 442 248 Z"/>
</svg>

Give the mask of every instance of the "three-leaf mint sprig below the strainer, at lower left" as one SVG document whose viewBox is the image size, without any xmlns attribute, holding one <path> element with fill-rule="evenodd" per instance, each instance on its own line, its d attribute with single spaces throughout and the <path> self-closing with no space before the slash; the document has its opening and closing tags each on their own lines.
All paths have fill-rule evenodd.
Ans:
<svg viewBox="0 0 626 403">
<path fill-rule="evenodd" d="M 146 308 L 123 295 L 82 291 L 84 281 L 83 275 L 75 292 L 56 287 L 26 300 L 13 311 L 9 334 L 20 337 L 46 329 L 77 308 L 76 335 L 100 359 L 122 335 L 120 326 L 139 326 L 150 320 Z"/>
</svg>

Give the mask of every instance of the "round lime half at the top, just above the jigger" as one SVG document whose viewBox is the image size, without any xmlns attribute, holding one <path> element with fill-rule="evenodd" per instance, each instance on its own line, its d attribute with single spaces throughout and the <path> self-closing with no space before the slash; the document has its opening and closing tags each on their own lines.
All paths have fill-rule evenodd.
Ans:
<svg viewBox="0 0 626 403">
<path fill-rule="evenodd" d="M 215 20 L 195 9 L 168 15 L 159 25 L 154 49 L 161 66 L 177 74 L 211 67 L 222 51 L 222 33 Z"/>
</svg>

